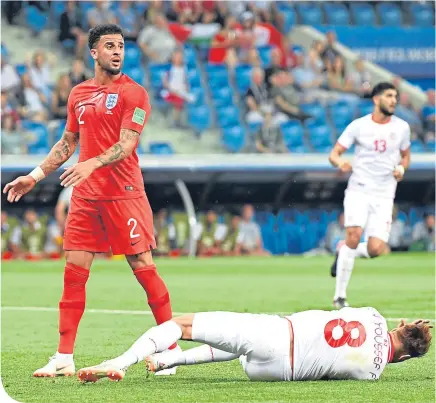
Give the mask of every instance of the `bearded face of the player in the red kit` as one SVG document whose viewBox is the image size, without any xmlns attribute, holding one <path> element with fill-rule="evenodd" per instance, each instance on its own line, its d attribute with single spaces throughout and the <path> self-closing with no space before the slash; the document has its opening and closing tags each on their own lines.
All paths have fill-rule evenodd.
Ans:
<svg viewBox="0 0 436 403">
<path fill-rule="evenodd" d="M 117 75 L 124 63 L 124 40 L 119 34 L 103 35 L 91 54 L 106 72 Z"/>
</svg>

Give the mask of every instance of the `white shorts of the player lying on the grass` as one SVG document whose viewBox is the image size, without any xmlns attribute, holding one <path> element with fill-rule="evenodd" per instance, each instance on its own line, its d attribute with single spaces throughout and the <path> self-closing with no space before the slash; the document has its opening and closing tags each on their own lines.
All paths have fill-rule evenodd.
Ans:
<svg viewBox="0 0 436 403">
<path fill-rule="evenodd" d="M 252 381 L 290 381 L 289 322 L 276 315 L 201 312 L 194 315 L 192 339 L 241 357 Z"/>
</svg>

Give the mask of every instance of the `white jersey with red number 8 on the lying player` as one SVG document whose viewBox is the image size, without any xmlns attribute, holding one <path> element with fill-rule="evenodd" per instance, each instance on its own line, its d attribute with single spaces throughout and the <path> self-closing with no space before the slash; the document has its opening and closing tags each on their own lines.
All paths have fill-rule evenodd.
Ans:
<svg viewBox="0 0 436 403">
<path fill-rule="evenodd" d="M 294 331 L 293 380 L 376 380 L 390 354 L 386 320 L 374 308 L 305 311 Z"/>
</svg>

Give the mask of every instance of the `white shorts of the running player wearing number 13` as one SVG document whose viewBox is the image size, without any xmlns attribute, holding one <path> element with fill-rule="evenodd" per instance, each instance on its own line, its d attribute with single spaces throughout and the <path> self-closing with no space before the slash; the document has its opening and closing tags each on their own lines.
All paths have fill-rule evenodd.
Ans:
<svg viewBox="0 0 436 403">
<path fill-rule="evenodd" d="M 344 199 L 345 227 L 361 227 L 367 237 L 389 240 L 394 200 L 347 190 Z"/>
</svg>

